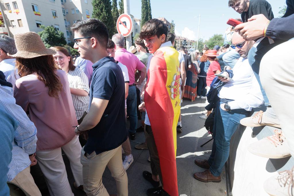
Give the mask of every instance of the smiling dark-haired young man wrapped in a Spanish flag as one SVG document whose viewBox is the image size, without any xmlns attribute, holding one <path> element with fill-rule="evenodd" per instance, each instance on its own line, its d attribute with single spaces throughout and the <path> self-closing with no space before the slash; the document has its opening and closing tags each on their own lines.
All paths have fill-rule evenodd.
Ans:
<svg viewBox="0 0 294 196">
<path fill-rule="evenodd" d="M 144 132 L 151 157 L 152 174 L 143 172 L 153 185 L 147 195 L 178 196 L 176 169 L 176 125 L 180 115 L 180 69 L 178 52 L 170 41 L 166 42 L 167 26 L 158 19 L 151 19 L 141 29 L 149 52 L 147 82 L 142 89 L 146 108 Z M 151 58 L 152 57 L 152 58 Z M 162 187 L 159 187 L 160 182 Z"/>
</svg>

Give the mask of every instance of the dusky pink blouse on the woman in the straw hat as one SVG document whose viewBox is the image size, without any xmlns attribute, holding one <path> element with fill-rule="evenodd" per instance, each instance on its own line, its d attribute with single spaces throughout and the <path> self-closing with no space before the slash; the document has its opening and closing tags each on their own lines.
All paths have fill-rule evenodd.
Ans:
<svg viewBox="0 0 294 196">
<path fill-rule="evenodd" d="M 49 88 L 37 79 L 35 73 L 16 80 L 14 98 L 37 128 L 37 150 L 53 150 L 74 138 L 72 126 L 78 125 L 71 98 L 69 81 L 62 70 L 57 70 L 63 85 L 59 98 L 49 96 Z"/>
</svg>

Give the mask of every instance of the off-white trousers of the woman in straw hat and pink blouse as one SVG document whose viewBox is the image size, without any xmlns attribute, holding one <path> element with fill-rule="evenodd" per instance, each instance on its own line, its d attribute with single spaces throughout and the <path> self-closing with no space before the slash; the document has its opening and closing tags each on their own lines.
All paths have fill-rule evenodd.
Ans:
<svg viewBox="0 0 294 196">
<path fill-rule="evenodd" d="M 74 175 L 76 185 L 83 184 L 83 166 L 81 159 L 81 144 L 78 136 L 61 147 L 66 156 L 69 158 L 71 171 Z M 54 150 L 38 150 L 36 152 L 40 168 L 45 176 L 45 180 L 50 195 L 53 196 L 73 196 L 69 180 L 67 179 L 66 169 L 63 162 L 61 148 Z"/>
</svg>

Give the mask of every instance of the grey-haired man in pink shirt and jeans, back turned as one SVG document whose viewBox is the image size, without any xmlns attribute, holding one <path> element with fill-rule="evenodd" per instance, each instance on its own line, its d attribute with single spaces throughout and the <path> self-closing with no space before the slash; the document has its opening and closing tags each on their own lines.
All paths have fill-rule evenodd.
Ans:
<svg viewBox="0 0 294 196">
<path fill-rule="evenodd" d="M 145 65 L 137 58 L 136 55 L 128 52 L 125 48 L 125 40 L 121 34 L 114 34 L 112 36 L 112 41 L 116 45 L 115 51 L 115 60 L 121 62 L 128 68 L 128 75 L 130 79 L 129 83 L 129 92 L 127 97 L 127 114 L 130 119 L 130 138 L 134 140 L 136 137 L 136 129 L 138 123 L 137 116 L 137 94 L 136 86 L 140 85 L 146 78 L 146 67 Z M 141 77 L 138 82 L 135 81 L 135 70 L 141 71 Z"/>
</svg>

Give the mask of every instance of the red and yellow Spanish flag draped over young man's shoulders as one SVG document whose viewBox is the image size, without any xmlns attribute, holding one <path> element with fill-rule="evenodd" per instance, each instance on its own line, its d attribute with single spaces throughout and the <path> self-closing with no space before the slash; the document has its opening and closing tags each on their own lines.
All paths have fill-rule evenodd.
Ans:
<svg viewBox="0 0 294 196">
<path fill-rule="evenodd" d="M 176 125 L 180 115 L 180 68 L 178 51 L 173 47 L 159 48 L 151 59 L 144 94 L 158 151 L 163 189 L 178 196 L 176 167 Z"/>
</svg>

